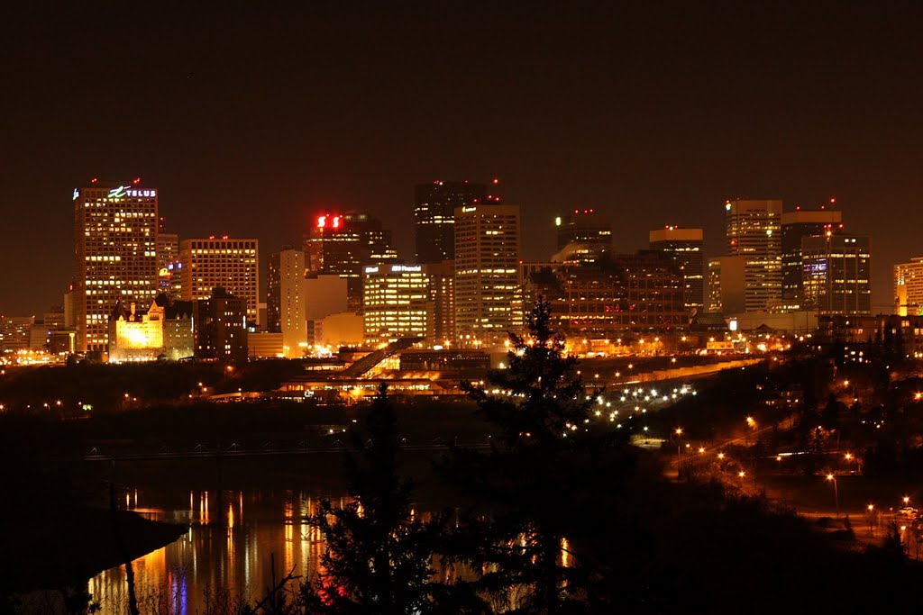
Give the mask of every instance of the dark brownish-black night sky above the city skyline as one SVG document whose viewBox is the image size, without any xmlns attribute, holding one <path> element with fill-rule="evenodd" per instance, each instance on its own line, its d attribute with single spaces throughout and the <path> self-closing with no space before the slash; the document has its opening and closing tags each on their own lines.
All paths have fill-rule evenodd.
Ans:
<svg viewBox="0 0 923 615">
<path fill-rule="evenodd" d="M 61 302 L 91 177 L 263 254 L 366 208 L 413 259 L 414 183 L 497 176 L 529 259 L 570 207 L 610 212 L 618 250 L 672 223 L 717 254 L 737 196 L 835 196 L 876 311 L 923 255 L 913 3 L 27 4 L 0 23 L 0 313 Z"/>
</svg>

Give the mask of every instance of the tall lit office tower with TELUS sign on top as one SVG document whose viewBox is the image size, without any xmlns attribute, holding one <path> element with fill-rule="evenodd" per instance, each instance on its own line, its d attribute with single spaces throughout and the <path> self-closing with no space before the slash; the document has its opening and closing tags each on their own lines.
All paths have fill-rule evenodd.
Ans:
<svg viewBox="0 0 923 615">
<path fill-rule="evenodd" d="M 105 352 L 115 304 L 157 295 L 157 189 L 93 180 L 73 200 L 77 349 Z"/>
</svg>

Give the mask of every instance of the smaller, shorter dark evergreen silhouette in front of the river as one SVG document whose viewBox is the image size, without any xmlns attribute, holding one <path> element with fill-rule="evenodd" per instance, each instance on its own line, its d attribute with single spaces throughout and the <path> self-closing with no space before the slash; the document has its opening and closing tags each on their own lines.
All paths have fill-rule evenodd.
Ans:
<svg viewBox="0 0 923 615">
<path fill-rule="evenodd" d="M 412 514 L 413 482 L 398 475 L 400 434 L 385 384 L 358 435 L 346 472 L 353 502 L 323 501 L 309 518 L 324 537 L 318 578 L 302 589 L 310 614 L 423 613 L 431 609 L 435 522 Z"/>
</svg>

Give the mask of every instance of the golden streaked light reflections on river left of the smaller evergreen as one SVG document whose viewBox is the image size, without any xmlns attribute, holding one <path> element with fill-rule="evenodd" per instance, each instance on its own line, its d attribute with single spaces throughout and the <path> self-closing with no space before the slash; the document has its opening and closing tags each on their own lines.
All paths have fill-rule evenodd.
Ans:
<svg viewBox="0 0 923 615">
<path fill-rule="evenodd" d="M 193 615 L 207 600 L 251 606 L 290 571 L 310 578 L 322 542 L 305 517 L 318 502 L 307 491 L 189 491 L 178 499 L 145 491 L 126 493 L 129 510 L 155 521 L 188 526 L 173 543 L 133 562 L 141 612 Z M 345 503 L 344 498 L 333 498 Z M 90 579 L 102 613 L 127 612 L 124 566 Z"/>
</svg>

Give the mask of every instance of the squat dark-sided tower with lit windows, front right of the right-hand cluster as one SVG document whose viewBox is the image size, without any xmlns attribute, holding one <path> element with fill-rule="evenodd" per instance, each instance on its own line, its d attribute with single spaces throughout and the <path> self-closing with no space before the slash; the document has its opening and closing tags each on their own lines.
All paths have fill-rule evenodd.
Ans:
<svg viewBox="0 0 923 615">
<path fill-rule="evenodd" d="M 869 238 L 821 236 L 801 240 L 802 288 L 805 306 L 821 315 L 871 313 Z"/>
</svg>

